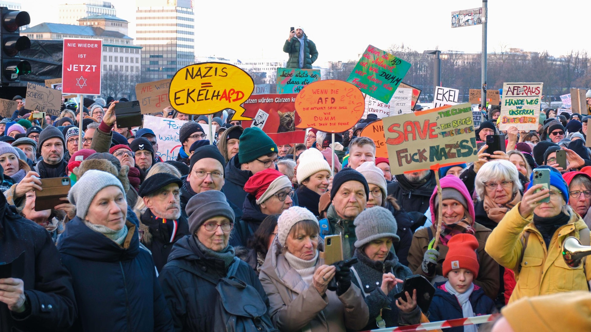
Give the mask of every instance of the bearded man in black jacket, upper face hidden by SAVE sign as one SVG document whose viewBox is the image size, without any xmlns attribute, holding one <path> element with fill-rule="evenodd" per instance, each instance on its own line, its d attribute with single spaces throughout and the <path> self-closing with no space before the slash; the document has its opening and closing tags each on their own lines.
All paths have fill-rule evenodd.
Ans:
<svg viewBox="0 0 591 332">
<path fill-rule="evenodd" d="M 396 182 L 388 184 L 388 196 L 393 195 L 407 212 L 425 213 L 429 199 L 437 186 L 433 171 L 415 171 L 395 175 Z"/>
</svg>

